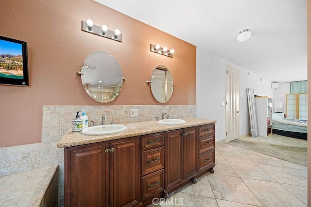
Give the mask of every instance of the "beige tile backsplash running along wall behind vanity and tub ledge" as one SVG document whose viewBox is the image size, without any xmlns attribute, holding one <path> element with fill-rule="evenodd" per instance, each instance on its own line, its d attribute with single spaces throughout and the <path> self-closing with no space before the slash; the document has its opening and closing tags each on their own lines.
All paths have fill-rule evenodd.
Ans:
<svg viewBox="0 0 311 207">
<path fill-rule="evenodd" d="M 138 117 L 130 117 L 131 109 L 138 109 Z M 90 121 L 102 123 L 105 114 L 106 123 L 151 121 L 161 118 L 162 112 L 168 112 L 171 119 L 196 117 L 196 105 L 111 105 L 111 106 L 43 106 L 41 143 L 0 148 L 0 177 L 59 164 L 59 199 L 63 198 L 64 150 L 57 148 L 58 141 L 71 129 L 72 119 L 77 111 L 86 110 Z"/>
</svg>

